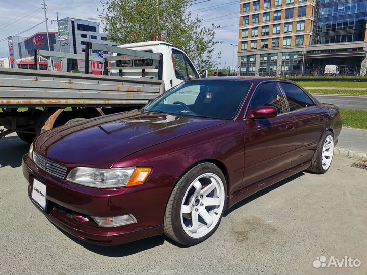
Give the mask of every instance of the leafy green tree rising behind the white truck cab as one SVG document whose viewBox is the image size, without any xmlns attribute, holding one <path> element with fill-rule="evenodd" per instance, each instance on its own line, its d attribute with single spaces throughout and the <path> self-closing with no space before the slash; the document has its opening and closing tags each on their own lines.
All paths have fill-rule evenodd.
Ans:
<svg viewBox="0 0 367 275">
<path fill-rule="evenodd" d="M 102 0 L 108 39 L 116 44 L 154 38 L 184 49 L 199 70 L 215 66 L 215 29 L 188 11 L 188 0 Z M 160 37 L 162 36 L 162 38 Z"/>
</svg>

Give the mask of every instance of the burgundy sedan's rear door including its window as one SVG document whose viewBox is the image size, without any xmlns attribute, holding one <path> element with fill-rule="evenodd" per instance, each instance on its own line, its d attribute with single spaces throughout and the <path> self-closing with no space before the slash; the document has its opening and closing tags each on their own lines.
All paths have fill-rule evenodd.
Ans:
<svg viewBox="0 0 367 275">
<path fill-rule="evenodd" d="M 326 128 L 327 115 L 300 87 L 292 83 L 280 82 L 279 87 L 289 102 L 295 117 L 295 155 L 292 166 L 310 160 Z"/>
</svg>

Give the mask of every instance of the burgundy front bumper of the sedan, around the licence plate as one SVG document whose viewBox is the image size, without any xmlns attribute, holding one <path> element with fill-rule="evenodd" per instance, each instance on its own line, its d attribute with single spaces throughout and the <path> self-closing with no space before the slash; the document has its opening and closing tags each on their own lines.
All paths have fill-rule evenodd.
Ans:
<svg viewBox="0 0 367 275">
<path fill-rule="evenodd" d="M 166 203 L 176 179 L 146 182 L 129 188 L 101 189 L 74 184 L 48 174 L 38 169 L 28 155 L 23 157 L 22 168 L 29 183 L 30 198 L 34 178 L 47 186 L 46 209 L 37 208 L 49 221 L 78 239 L 99 245 L 119 245 L 163 233 Z M 126 214 L 133 214 L 137 222 L 119 227 L 100 227 L 90 218 Z"/>
</svg>

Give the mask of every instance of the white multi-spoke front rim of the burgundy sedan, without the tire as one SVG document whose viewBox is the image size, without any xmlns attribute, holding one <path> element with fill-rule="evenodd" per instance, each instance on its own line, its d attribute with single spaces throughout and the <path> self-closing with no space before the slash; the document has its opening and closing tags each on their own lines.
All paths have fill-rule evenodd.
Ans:
<svg viewBox="0 0 367 275">
<path fill-rule="evenodd" d="M 185 233 L 201 238 L 218 224 L 225 202 L 223 181 L 214 173 L 198 176 L 186 190 L 180 218 Z"/>
</svg>

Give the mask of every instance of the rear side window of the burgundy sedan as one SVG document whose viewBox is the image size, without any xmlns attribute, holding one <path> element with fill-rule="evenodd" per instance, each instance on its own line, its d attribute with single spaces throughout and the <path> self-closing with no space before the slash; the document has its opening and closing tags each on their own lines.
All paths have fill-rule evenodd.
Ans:
<svg viewBox="0 0 367 275">
<path fill-rule="evenodd" d="M 285 93 L 291 111 L 315 105 L 309 96 L 298 86 L 290 83 L 279 83 L 279 85 Z"/>
</svg>

